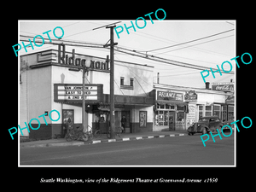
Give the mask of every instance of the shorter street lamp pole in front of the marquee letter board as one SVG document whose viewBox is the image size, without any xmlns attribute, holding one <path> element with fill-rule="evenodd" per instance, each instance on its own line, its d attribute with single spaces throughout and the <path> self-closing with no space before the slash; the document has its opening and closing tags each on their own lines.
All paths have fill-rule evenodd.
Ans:
<svg viewBox="0 0 256 192">
<path fill-rule="evenodd" d="M 85 84 L 85 73 L 90 71 L 90 60 L 86 60 L 82 63 L 82 67 L 79 68 L 69 68 L 69 71 L 79 72 L 82 69 L 83 72 L 83 95 L 82 95 L 82 124 L 83 124 L 83 131 L 87 131 L 85 126 L 85 98 L 84 98 L 84 84 Z"/>
</svg>

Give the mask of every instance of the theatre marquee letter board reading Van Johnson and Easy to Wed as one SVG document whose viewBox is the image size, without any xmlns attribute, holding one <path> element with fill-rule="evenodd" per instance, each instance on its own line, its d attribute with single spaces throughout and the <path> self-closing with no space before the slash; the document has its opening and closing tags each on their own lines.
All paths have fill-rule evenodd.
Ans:
<svg viewBox="0 0 256 192">
<path fill-rule="evenodd" d="M 85 84 L 84 100 L 87 102 L 102 101 L 102 84 Z M 55 102 L 82 102 L 82 84 L 54 84 Z"/>
</svg>

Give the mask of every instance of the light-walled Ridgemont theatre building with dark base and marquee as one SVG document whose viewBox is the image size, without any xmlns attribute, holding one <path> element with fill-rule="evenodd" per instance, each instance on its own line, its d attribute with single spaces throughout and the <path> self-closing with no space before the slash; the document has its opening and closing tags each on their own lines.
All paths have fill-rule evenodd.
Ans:
<svg viewBox="0 0 256 192">
<path fill-rule="evenodd" d="M 107 55 L 106 55 L 107 58 Z M 106 132 L 109 126 L 110 65 L 106 58 L 65 51 L 65 45 L 20 56 L 20 127 L 37 118 L 38 130 L 23 130 L 24 136 L 52 138 L 64 136 L 67 119 L 75 127 L 82 126 L 82 70 L 86 61 L 90 68 L 85 73 L 85 122 Z M 76 70 L 77 69 L 77 70 Z M 114 61 L 114 116 L 115 126 L 125 116 L 125 132 L 153 131 L 153 67 Z M 47 117 L 51 110 L 61 114 L 58 121 Z M 45 119 L 38 116 L 47 113 Z M 52 113 L 52 119 L 57 119 Z M 38 127 L 32 121 L 32 127 Z M 86 131 L 86 130 L 84 130 Z M 21 134 L 20 134 L 21 135 Z"/>
</svg>

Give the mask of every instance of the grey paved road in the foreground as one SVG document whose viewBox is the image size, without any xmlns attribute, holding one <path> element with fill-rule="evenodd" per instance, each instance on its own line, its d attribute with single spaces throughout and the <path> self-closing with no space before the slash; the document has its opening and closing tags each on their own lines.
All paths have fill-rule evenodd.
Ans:
<svg viewBox="0 0 256 192">
<path fill-rule="evenodd" d="M 20 148 L 20 166 L 210 166 L 234 165 L 234 137 L 201 142 L 201 135 L 152 138 L 92 145 Z"/>
</svg>

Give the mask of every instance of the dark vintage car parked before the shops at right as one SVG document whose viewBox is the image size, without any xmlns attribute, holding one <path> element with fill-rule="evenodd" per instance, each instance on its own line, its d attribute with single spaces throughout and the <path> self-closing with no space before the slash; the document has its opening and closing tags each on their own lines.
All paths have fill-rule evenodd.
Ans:
<svg viewBox="0 0 256 192">
<path fill-rule="evenodd" d="M 194 135 L 197 132 L 201 132 L 202 135 L 208 134 L 210 131 L 221 132 L 221 128 L 224 126 L 224 123 L 218 118 L 218 116 L 206 116 L 198 119 L 198 122 L 195 122 L 193 125 L 189 126 L 188 134 Z M 227 128 L 229 129 L 229 128 Z"/>
</svg>

